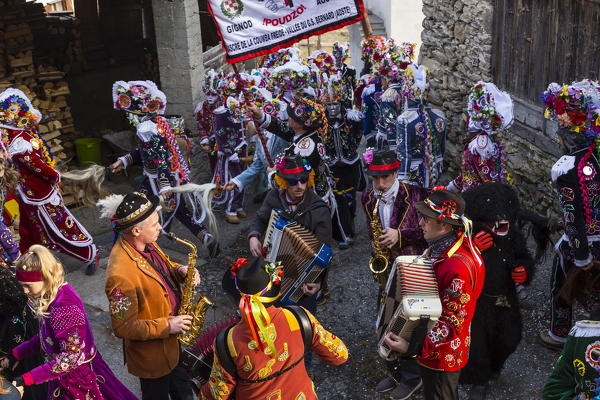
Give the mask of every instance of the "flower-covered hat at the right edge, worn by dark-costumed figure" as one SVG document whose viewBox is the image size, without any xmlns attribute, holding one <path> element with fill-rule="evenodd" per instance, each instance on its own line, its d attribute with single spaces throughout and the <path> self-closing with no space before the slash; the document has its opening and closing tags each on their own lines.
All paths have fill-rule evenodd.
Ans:
<svg viewBox="0 0 600 400">
<path fill-rule="evenodd" d="M 572 132 L 600 134 L 600 83 L 585 79 L 570 85 L 548 85 L 542 93 L 544 117 L 558 121 Z"/>
</svg>

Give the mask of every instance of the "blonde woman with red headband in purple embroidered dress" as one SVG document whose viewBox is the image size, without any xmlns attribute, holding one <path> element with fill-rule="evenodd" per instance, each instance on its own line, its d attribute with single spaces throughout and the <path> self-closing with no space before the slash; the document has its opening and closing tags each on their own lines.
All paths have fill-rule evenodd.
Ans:
<svg viewBox="0 0 600 400">
<path fill-rule="evenodd" d="M 2 359 L 3 368 L 40 351 L 47 362 L 15 379 L 17 386 L 48 382 L 48 398 L 133 400 L 94 344 L 79 295 L 64 280 L 63 267 L 52 253 L 33 245 L 16 263 L 16 278 L 41 319 L 40 334 Z"/>
</svg>

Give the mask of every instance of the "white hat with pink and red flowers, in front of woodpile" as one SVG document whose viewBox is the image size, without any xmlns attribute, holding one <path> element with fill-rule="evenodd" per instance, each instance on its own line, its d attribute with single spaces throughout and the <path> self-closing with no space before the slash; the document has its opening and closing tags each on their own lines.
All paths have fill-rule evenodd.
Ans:
<svg viewBox="0 0 600 400">
<path fill-rule="evenodd" d="M 152 81 L 117 81 L 112 94 L 115 110 L 162 115 L 167 107 L 167 96 Z"/>
</svg>

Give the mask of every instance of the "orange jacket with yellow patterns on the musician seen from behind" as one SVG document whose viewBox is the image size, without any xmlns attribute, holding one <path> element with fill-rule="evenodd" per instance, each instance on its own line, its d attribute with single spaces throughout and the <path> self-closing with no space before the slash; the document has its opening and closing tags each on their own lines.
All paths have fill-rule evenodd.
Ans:
<svg viewBox="0 0 600 400">
<path fill-rule="evenodd" d="M 298 320 L 287 309 L 270 306 L 266 311 L 271 318 L 271 324 L 266 326 L 266 330 L 273 339 L 277 355 L 267 346 L 262 333 L 260 338 L 264 343 L 264 351 L 260 350 L 249 325 L 242 320 L 227 335 L 227 348 L 236 366 L 238 378 L 231 376 L 223 368 L 215 351 L 210 379 L 202 387 L 200 399 L 225 400 L 234 390 L 234 398 L 244 400 L 317 399 L 313 382 L 306 373 L 302 359 L 304 342 Z M 329 364 L 346 362 L 348 349 L 344 342 L 325 330 L 308 311 L 306 314 L 313 330 L 311 350 Z M 264 378 L 269 379 L 263 380 Z M 248 380 L 261 381 L 246 382 Z"/>
</svg>

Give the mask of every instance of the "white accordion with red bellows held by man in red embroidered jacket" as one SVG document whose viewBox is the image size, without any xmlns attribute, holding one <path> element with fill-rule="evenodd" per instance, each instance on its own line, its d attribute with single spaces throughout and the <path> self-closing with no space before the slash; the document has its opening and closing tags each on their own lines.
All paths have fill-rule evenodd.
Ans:
<svg viewBox="0 0 600 400">
<path fill-rule="evenodd" d="M 379 355 L 386 360 L 394 358 L 392 350 L 385 343 L 385 336 L 392 332 L 410 342 L 413 331 L 422 318 L 427 318 L 428 330 L 442 314 L 437 281 L 429 259 L 415 256 L 397 257 L 390 272 L 387 289 L 396 279 L 399 286 L 400 298 L 394 314 L 381 335 L 377 350 Z M 383 306 L 381 307 L 377 324 L 381 323 Z M 393 353 L 392 353 L 393 354 Z"/>
</svg>

